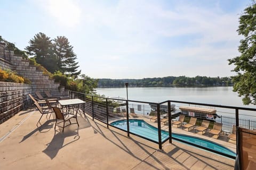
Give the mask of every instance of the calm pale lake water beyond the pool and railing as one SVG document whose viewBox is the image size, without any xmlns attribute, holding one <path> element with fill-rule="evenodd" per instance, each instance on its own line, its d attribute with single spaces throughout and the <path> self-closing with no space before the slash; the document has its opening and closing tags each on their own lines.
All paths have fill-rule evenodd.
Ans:
<svg viewBox="0 0 256 170">
<path fill-rule="evenodd" d="M 126 99 L 126 88 L 98 88 L 97 93 L 106 97 L 121 97 Z M 165 100 L 190 101 L 195 103 L 239 106 L 256 108 L 255 105 L 243 105 L 242 98 L 238 97 L 233 87 L 158 87 L 158 88 L 129 88 L 129 100 L 162 102 Z M 217 110 L 218 111 L 218 110 Z M 239 112 L 241 113 L 241 112 Z M 253 112 L 243 111 L 242 114 L 256 115 Z"/>
</svg>

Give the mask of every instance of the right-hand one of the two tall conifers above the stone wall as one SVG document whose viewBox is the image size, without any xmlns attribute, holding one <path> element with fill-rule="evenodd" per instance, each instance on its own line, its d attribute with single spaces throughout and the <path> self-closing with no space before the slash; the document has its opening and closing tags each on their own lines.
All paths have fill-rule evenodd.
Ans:
<svg viewBox="0 0 256 170">
<path fill-rule="evenodd" d="M 66 37 L 57 36 L 57 38 L 53 40 L 53 54 L 57 59 L 60 72 L 70 73 L 71 76 L 75 77 L 81 73 L 81 70 L 77 71 L 79 66 L 75 61 L 77 57 L 73 51 L 73 46 L 69 45 L 69 41 Z"/>
</svg>

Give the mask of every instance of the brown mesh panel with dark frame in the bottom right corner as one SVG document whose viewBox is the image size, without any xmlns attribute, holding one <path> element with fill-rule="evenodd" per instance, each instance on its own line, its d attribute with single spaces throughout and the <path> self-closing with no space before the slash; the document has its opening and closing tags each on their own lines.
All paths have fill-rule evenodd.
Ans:
<svg viewBox="0 0 256 170">
<path fill-rule="evenodd" d="M 239 169 L 255 169 L 256 131 L 237 127 L 237 140 Z"/>
</svg>

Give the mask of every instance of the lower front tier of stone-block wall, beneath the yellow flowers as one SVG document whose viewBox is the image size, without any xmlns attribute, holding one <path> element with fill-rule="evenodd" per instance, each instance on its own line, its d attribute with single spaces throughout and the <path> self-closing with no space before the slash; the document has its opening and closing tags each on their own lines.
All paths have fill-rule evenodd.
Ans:
<svg viewBox="0 0 256 170">
<path fill-rule="evenodd" d="M 30 84 L 0 82 L 0 124 L 25 108 L 31 92 Z"/>
</svg>

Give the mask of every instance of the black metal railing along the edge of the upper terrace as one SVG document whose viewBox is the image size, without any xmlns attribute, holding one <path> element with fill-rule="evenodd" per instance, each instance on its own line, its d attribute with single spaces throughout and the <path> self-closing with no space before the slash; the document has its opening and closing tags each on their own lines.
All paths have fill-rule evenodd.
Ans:
<svg viewBox="0 0 256 170">
<path fill-rule="evenodd" d="M 248 129 L 256 129 L 256 119 L 252 120 L 252 119 L 246 119 L 246 118 L 239 118 L 239 111 L 255 112 L 256 108 L 202 104 L 202 103 L 193 103 L 193 102 L 177 101 L 177 100 L 167 100 L 167 101 L 163 101 L 161 103 L 152 103 L 152 102 L 146 102 L 146 101 L 114 99 L 114 98 L 93 96 L 93 95 L 83 94 L 81 92 L 76 92 L 76 91 L 71 91 L 71 90 L 65 90 L 65 95 L 69 96 L 70 98 L 79 98 L 79 99 L 86 101 L 84 108 L 82 108 L 82 106 L 81 106 L 81 109 L 83 109 L 83 111 L 86 112 L 87 114 L 91 115 L 93 120 L 96 119 L 98 121 L 101 121 L 101 122 L 107 124 L 107 127 L 113 126 L 114 128 L 125 131 L 125 132 L 127 132 L 128 136 L 130 134 L 134 134 L 143 139 L 157 143 L 159 146 L 159 149 L 162 149 L 162 144 L 167 140 L 169 140 L 169 142 L 172 143 L 172 139 L 188 143 L 189 145 L 193 145 L 193 143 L 191 144 L 187 141 L 172 137 L 172 126 L 171 126 L 172 118 L 175 116 L 178 116 L 179 114 L 182 114 L 182 112 L 173 111 L 173 108 L 171 107 L 172 104 L 189 105 L 189 106 L 196 105 L 196 106 L 205 106 L 205 107 L 211 107 L 211 108 L 214 107 L 214 108 L 229 109 L 229 112 L 230 112 L 229 114 L 235 115 L 234 117 L 221 115 L 220 117 L 216 117 L 214 120 L 215 122 L 220 122 L 223 124 L 222 130 L 230 130 L 230 132 L 231 132 L 233 125 L 243 126 L 244 128 L 248 128 Z M 122 102 L 122 103 L 120 104 L 118 102 Z M 155 111 L 152 111 L 152 109 L 150 109 L 150 105 L 156 106 Z M 166 113 L 166 109 L 165 109 L 165 111 L 163 111 L 161 109 L 161 108 L 163 108 L 163 106 L 161 106 L 161 105 L 167 106 L 167 113 Z M 135 113 L 139 113 L 140 115 L 143 115 L 143 116 L 148 116 L 148 114 L 151 114 L 153 112 L 156 114 L 156 116 L 157 116 L 157 121 L 156 121 L 157 126 L 156 127 L 157 127 L 157 133 L 158 133 L 157 141 L 152 140 L 148 137 L 145 137 L 145 136 L 143 136 L 139 133 L 136 133 L 134 131 L 131 131 L 130 123 L 129 123 L 129 119 L 130 119 L 129 113 L 131 111 L 129 112 L 129 108 L 134 109 L 134 107 L 136 107 L 136 106 L 137 106 L 137 108 L 135 108 L 135 111 L 136 111 Z M 124 112 L 122 112 L 123 115 L 119 114 L 118 113 L 119 111 L 117 112 L 116 108 L 120 108 L 122 110 L 124 109 Z M 142 108 L 143 108 L 143 111 L 142 111 Z M 126 119 L 126 125 L 127 125 L 126 129 L 118 128 L 114 125 L 111 125 L 111 122 L 116 120 L 115 117 L 120 116 L 120 115 L 121 115 L 121 118 L 119 117 L 119 118 L 117 118 L 117 120 L 122 119 L 122 116 L 123 116 L 123 119 L 124 120 Z M 163 115 L 168 117 L 167 122 L 165 122 L 164 124 L 162 122 Z M 166 125 L 166 126 L 164 126 L 164 125 Z M 165 127 L 167 127 L 166 130 L 167 130 L 167 133 L 169 133 L 169 137 L 167 139 L 163 140 L 162 139 L 162 129 Z M 194 144 L 194 146 L 197 146 L 197 145 Z M 215 152 L 215 153 L 223 155 L 223 156 L 235 158 L 234 156 L 227 155 L 227 154 L 219 152 L 217 150 L 205 148 L 203 146 L 197 146 L 197 147 Z"/>
</svg>

